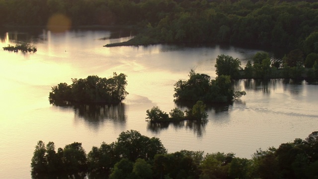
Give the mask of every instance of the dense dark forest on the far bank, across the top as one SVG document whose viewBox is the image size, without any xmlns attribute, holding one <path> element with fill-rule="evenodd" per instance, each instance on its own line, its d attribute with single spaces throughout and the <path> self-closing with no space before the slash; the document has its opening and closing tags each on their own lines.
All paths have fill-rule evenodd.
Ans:
<svg viewBox="0 0 318 179">
<path fill-rule="evenodd" d="M 130 44 L 213 42 L 299 48 L 318 30 L 314 0 L 1 0 L 0 24 L 138 25 Z M 317 42 L 315 38 L 314 42 Z M 312 44 L 310 45 L 312 46 Z"/>
</svg>

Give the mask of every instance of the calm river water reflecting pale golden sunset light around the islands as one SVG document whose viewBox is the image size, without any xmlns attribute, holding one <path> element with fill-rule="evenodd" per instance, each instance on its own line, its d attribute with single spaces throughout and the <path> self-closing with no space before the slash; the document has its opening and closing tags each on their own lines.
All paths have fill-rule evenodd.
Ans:
<svg viewBox="0 0 318 179">
<path fill-rule="evenodd" d="M 56 149 L 81 142 L 88 153 L 92 146 L 114 142 L 122 131 L 132 129 L 160 138 L 168 152 L 233 152 L 237 157 L 251 158 L 259 148 L 305 139 L 318 130 L 318 85 L 291 80 L 237 81 L 235 89 L 245 90 L 246 95 L 231 105 L 208 107 L 205 124 L 184 121 L 151 126 L 145 121 L 146 110 L 153 106 L 167 113 L 177 106 L 173 84 L 187 80 L 190 69 L 214 79 L 218 55 L 239 58 L 244 67 L 260 49 L 219 45 L 106 48 L 103 45 L 131 37 L 87 29 L 64 33 L 7 31 L 0 38 L 1 179 L 30 178 L 31 158 L 39 140 L 53 141 Z M 29 42 L 38 51 L 2 50 L 17 41 Z M 60 107 L 49 103 L 54 85 L 71 84 L 71 78 L 89 75 L 110 77 L 113 72 L 128 76 L 129 95 L 123 104 Z"/>
</svg>

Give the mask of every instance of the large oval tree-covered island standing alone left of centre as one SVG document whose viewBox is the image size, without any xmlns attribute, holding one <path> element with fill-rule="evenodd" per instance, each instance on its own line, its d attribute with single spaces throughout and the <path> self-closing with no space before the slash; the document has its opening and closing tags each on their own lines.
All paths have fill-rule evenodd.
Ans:
<svg viewBox="0 0 318 179">
<path fill-rule="evenodd" d="M 113 77 L 99 78 L 88 76 L 86 79 L 72 79 L 73 84 L 60 83 L 52 87 L 49 100 L 53 104 L 66 105 L 68 103 L 107 103 L 116 104 L 129 94 L 126 91 L 127 80 L 125 74 L 113 73 Z"/>
</svg>

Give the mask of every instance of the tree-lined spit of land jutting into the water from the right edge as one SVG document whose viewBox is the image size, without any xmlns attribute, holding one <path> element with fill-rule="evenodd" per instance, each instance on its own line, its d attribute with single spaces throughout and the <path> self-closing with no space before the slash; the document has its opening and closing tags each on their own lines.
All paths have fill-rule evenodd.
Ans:
<svg viewBox="0 0 318 179">
<path fill-rule="evenodd" d="M 311 53 L 306 58 L 300 49 L 295 49 L 282 59 L 270 57 L 267 52 L 257 52 L 245 67 L 241 61 L 229 55 L 218 55 L 216 74 L 230 76 L 231 79 L 297 79 L 316 81 L 318 79 L 318 54 Z"/>
</svg>

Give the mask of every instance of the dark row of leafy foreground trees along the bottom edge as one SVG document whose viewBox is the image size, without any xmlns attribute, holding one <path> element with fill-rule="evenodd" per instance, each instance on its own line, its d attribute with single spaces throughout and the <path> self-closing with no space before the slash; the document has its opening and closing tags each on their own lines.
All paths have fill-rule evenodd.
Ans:
<svg viewBox="0 0 318 179">
<path fill-rule="evenodd" d="M 122 132 L 116 142 L 92 147 L 74 142 L 57 151 L 39 141 L 31 161 L 34 179 L 317 179 L 318 132 L 305 140 L 256 150 L 251 159 L 234 153 L 167 153 L 158 138 Z"/>
</svg>

